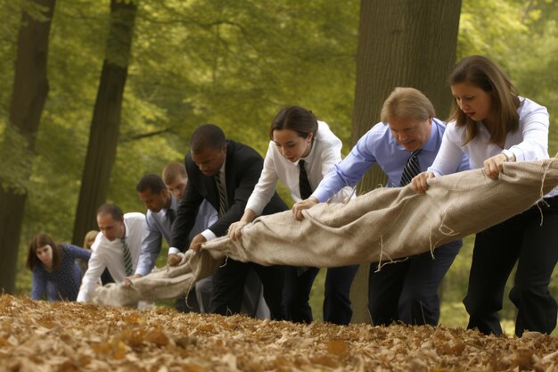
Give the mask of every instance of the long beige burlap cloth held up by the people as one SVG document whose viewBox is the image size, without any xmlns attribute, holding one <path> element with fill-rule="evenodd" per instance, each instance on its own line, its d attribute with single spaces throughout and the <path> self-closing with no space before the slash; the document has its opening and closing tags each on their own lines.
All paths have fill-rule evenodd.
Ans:
<svg viewBox="0 0 558 372">
<path fill-rule="evenodd" d="M 504 167 L 497 180 L 485 177 L 482 169 L 430 179 L 426 194 L 417 194 L 412 186 L 378 188 L 347 204 L 321 203 L 304 211 L 302 221 L 291 211 L 259 217 L 242 228 L 240 241 L 212 240 L 201 252 L 187 253 L 178 268 L 136 279 L 133 290 L 118 289 L 121 285 L 98 290 L 97 301 L 104 297 L 111 298 L 109 304 L 123 304 L 119 297 L 130 292 L 148 301 L 176 297 L 211 275 L 226 257 L 329 268 L 428 252 L 529 209 L 558 185 L 555 159 Z"/>
</svg>

